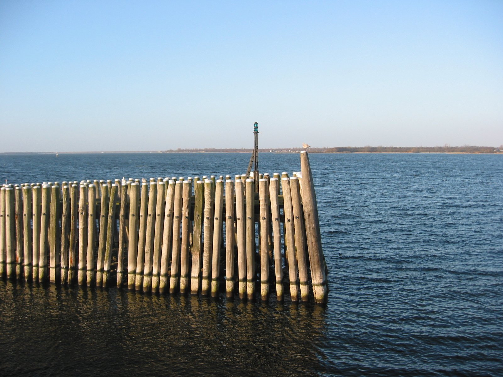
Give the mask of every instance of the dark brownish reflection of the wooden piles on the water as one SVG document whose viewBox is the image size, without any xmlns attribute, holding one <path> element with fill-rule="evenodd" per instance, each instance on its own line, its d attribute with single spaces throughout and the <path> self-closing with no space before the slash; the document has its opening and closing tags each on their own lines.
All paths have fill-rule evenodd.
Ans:
<svg viewBox="0 0 503 377">
<path fill-rule="evenodd" d="M 0 282 L 0 375 L 324 370 L 319 306 Z"/>
</svg>

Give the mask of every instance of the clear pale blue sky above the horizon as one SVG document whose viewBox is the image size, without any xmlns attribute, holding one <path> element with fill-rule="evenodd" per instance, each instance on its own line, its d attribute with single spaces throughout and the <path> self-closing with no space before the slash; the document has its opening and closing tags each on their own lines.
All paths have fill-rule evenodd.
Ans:
<svg viewBox="0 0 503 377">
<path fill-rule="evenodd" d="M 503 1 L 0 1 L 0 152 L 503 144 Z"/>
</svg>

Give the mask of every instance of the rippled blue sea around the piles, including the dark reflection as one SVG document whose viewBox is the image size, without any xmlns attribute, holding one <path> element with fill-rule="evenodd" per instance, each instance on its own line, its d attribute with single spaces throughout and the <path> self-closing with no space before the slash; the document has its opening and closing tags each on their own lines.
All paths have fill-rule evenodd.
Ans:
<svg viewBox="0 0 503 377">
<path fill-rule="evenodd" d="M 248 159 L 0 155 L 0 179 L 233 176 Z M 0 375 L 503 375 L 503 155 L 310 159 L 326 307 L 0 281 Z"/>
</svg>

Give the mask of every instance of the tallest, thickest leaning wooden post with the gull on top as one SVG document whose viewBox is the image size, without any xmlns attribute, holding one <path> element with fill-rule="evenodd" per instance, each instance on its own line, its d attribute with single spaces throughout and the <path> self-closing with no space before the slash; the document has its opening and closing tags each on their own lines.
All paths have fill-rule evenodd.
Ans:
<svg viewBox="0 0 503 377">
<path fill-rule="evenodd" d="M 318 205 L 316 203 L 316 193 L 314 192 L 311 166 L 309 165 L 309 156 L 305 151 L 300 153 L 300 166 L 302 171 L 302 204 L 314 301 L 322 304 L 326 302 L 328 293 L 325 273 L 326 263 L 321 248 Z"/>
</svg>

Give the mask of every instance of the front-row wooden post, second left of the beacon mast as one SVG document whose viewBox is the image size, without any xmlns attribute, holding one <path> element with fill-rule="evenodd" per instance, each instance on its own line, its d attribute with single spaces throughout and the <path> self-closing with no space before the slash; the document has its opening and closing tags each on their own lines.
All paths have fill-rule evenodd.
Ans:
<svg viewBox="0 0 503 377">
<path fill-rule="evenodd" d="M 235 180 L 237 228 L 237 276 L 239 298 L 246 298 L 246 228 L 244 219 L 243 181 Z M 251 298 L 251 297 L 250 297 Z"/>
</svg>

